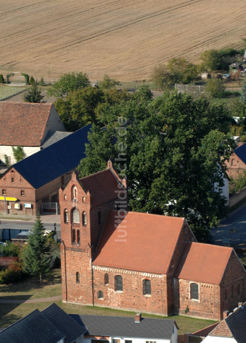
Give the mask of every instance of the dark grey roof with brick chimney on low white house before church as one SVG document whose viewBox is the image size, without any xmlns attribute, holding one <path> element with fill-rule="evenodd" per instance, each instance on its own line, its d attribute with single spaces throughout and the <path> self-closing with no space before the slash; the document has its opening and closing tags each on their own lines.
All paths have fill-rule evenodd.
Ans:
<svg viewBox="0 0 246 343">
<path fill-rule="evenodd" d="M 69 316 L 87 328 L 86 334 L 95 336 L 171 340 L 173 327 L 177 327 L 173 319 L 142 318 L 140 323 L 135 323 L 131 317 Z"/>
</svg>

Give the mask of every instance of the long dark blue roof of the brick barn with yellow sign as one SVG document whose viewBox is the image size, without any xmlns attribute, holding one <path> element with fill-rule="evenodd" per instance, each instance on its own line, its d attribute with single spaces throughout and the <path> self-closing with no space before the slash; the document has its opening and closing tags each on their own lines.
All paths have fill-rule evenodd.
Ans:
<svg viewBox="0 0 246 343">
<path fill-rule="evenodd" d="M 91 125 L 12 165 L 35 189 L 76 168 L 85 157 Z"/>
</svg>

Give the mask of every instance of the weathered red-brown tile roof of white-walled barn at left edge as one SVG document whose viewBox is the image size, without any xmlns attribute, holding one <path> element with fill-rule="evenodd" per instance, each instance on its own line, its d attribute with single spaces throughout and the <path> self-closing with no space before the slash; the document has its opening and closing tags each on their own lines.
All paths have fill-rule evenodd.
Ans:
<svg viewBox="0 0 246 343">
<path fill-rule="evenodd" d="M 51 106 L 0 101 L 0 144 L 40 146 Z"/>
</svg>

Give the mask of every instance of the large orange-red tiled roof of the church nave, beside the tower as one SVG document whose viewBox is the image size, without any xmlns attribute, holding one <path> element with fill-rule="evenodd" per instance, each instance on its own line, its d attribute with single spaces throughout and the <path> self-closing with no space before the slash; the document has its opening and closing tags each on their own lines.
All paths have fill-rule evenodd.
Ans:
<svg viewBox="0 0 246 343">
<path fill-rule="evenodd" d="M 116 215 L 108 212 L 93 264 L 166 274 L 184 218 L 128 212 L 115 228 Z"/>
</svg>

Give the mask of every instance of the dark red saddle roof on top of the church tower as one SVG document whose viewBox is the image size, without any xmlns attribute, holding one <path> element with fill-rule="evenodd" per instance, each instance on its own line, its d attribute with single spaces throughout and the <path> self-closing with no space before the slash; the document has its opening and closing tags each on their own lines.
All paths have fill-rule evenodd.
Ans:
<svg viewBox="0 0 246 343">
<path fill-rule="evenodd" d="M 83 177 L 80 182 L 87 191 L 91 190 L 93 205 L 117 198 L 118 193 L 115 191 L 120 190 L 118 182 L 110 169 Z"/>
</svg>

